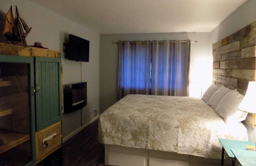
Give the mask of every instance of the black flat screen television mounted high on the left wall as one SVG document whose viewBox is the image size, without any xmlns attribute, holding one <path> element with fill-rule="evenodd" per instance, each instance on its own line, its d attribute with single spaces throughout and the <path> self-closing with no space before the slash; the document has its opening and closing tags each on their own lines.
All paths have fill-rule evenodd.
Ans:
<svg viewBox="0 0 256 166">
<path fill-rule="evenodd" d="M 69 34 L 68 60 L 89 62 L 90 41 Z"/>
</svg>

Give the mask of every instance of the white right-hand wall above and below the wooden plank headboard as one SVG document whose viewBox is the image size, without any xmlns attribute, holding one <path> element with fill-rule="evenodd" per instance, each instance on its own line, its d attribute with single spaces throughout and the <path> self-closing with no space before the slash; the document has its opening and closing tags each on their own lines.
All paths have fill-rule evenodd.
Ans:
<svg viewBox="0 0 256 166">
<path fill-rule="evenodd" d="M 256 1 L 248 0 L 242 6 L 240 6 L 236 11 L 228 16 L 219 26 L 214 28 L 210 34 L 211 44 L 219 41 L 230 34 L 240 30 L 244 26 L 251 24 L 256 20 Z M 254 142 L 256 141 L 256 130 L 252 127 L 247 126 L 247 132 L 249 135 L 249 140 Z M 256 128 L 256 127 L 255 127 Z"/>
</svg>

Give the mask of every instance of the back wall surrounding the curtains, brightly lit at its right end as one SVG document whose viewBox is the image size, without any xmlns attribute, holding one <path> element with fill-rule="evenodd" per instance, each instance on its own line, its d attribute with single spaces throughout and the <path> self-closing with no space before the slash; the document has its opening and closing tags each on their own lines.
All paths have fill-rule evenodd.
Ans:
<svg viewBox="0 0 256 166">
<path fill-rule="evenodd" d="M 100 35 L 100 110 L 104 111 L 117 100 L 117 50 L 113 41 L 145 40 L 197 40 L 191 43 L 190 96 L 200 97 L 197 83 L 212 83 L 212 55 L 210 33 L 152 33 L 152 34 L 101 34 Z M 202 70 L 204 69 L 204 70 Z M 201 85 L 199 85 L 201 86 Z"/>
</svg>

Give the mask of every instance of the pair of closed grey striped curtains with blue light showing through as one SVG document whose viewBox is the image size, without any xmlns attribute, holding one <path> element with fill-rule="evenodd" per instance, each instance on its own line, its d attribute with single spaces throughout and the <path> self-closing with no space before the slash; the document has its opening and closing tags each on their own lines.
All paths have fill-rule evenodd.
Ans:
<svg viewBox="0 0 256 166">
<path fill-rule="evenodd" d="M 118 51 L 118 100 L 128 94 L 188 96 L 190 40 L 120 41 Z"/>
</svg>

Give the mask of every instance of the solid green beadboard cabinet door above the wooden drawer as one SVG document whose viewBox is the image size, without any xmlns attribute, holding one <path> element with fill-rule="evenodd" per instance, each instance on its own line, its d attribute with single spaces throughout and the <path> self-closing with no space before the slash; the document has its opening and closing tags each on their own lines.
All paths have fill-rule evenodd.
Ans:
<svg viewBox="0 0 256 166">
<path fill-rule="evenodd" d="M 35 57 L 36 132 L 58 122 L 61 109 L 61 59 Z"/>
</svg>

